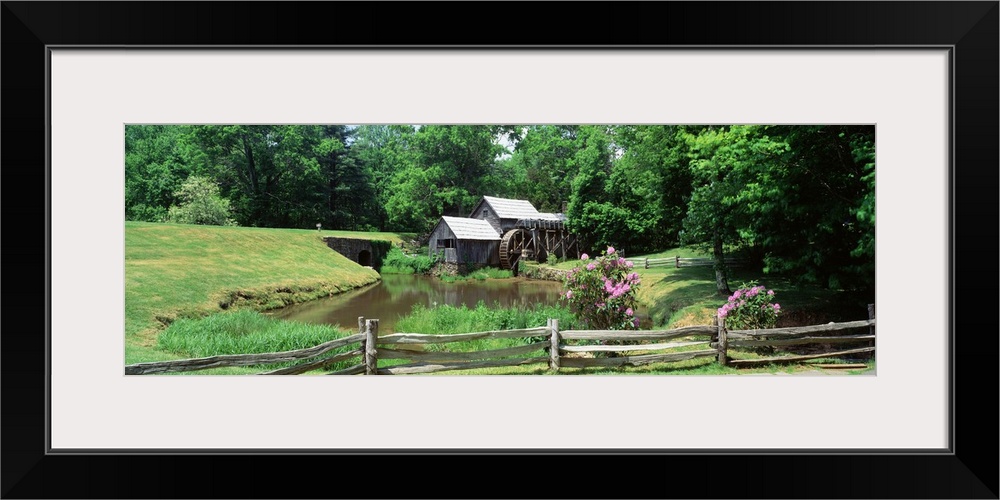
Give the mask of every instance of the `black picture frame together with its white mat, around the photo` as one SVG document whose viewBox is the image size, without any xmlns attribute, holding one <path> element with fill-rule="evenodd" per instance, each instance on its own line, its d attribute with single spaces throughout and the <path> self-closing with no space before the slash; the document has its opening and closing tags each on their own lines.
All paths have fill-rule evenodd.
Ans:
<svg viewBox="0 0 1000 500">
<path fill-rule="evenodd" d="M 4 497 L 302 496 L 279 477 L 331 471 L 358 483 L 346 496 L 407 497 L 427 466 L 492 455 L 505 475 L 606 468 L 554 485 L 571 496 L 997 498 L 976 458 L 996 442 L 971 424 L 997 418 L 980 285 L 997 275 L 997 2 L 582 3 L 593 34 L 523 44 L 449 10 L 4 2 L 8 249 L 37 245 L 8 258 L 45 269 L 5 296 L 30 313 L 4 338 Z M 874 125 L 878 372 L 124 376 L 123 131 L 141 123 Z M 669 473 L 633 491 L 632 463 Z M 188 480 L 218 464 L 255 480 Z M 670 486 L 693 477 L 704 493 Z M 451 494 L 478 496 L 434 496 Z"/>
</svg>

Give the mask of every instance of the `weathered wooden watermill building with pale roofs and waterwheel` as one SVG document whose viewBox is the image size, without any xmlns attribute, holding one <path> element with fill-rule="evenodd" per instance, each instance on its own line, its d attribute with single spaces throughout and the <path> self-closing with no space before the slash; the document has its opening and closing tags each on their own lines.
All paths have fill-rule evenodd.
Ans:
<svg viewBox="0 0 1000 500">
<path fill-rule="evenodd" d="M 441 217 L 431 232 L 430 254 L 441 251 L 456 271 L 498 266 L 516 272 L 522 258 L 579 258 L 577 238 L 565 222 L 563 214 L 539 212 L 527 200 L 484 196 L 468 218 Z"/>
</svg>

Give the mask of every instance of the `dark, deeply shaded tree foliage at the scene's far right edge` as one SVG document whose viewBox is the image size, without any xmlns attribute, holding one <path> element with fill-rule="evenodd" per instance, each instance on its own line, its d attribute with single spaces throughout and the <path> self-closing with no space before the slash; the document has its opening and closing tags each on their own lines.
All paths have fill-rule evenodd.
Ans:
<svg viewBox="0 0 1000 500">
<path fill-rule="evenodd" d="M 766 270 L 874 297 L 875 128 L 764 129 L 788 144 L 767 189 L 746 190 L 758 207 Z"/>
</svg>

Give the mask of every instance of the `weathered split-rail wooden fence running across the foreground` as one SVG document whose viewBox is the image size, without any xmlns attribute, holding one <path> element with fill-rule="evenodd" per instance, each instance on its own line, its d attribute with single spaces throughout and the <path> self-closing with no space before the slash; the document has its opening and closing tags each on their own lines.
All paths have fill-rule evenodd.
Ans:
<svg viewBox="0 0 1000 500">
<path fill-rule="evenodd" d="M 839 357 L 852 354 L 874 352 L 875 341 L 874 307 L 869 307 L 869 319 L 828 323 L 767 330 L 728 330 L 725 320 L 716 320 L 716 325 L 687 326 L 670 330 L 559 330 L 559 322 L 550 319 L 544 327 L 522 328 L 487 332 L 461 333 L 453 335 L 431 335 L 420 333 L 394 333 L 378 336 L 378 320 L 358 318 L 359 333 L 341 339 L 324 342 L 307 349 L 265 354 L 240 354 L 211 356 L 207 358 L 161 361 L 127 365 L 128 375 L 150 373 L 204 370 L 222 366 L 253 366 L 286 361 L 304 361 L 297 365 L 270 370 L 261 375 L 296 375 L 330 366 L 334 363 L 358 359 L 358 363 L 348 368 L 331 372 L 330 375 L 397 375 L 435 373 L 452 370 L 473 370 L 480 368 L 548 364 L 549 369 L 558 371 L 561 367 L 620 367 L 639 366 L 652 363 L 667 363 L 698 357 L 714 357 L 725 366 L 754 366 L 769 363 L 789 363 L 816 358 Z M 851 329 L 866 329 L 866 333 L 855 335 L 817 335 L 821 333 L 843 332 Z M 707 337 L 692 340 L 691 337 Z M 396 349 L 392 346 L 406 344 L 447 344 L 479 339 L 527 339 L 523 345 L 502 349 L 480 351 L 417 351 Z M 665 340 L 675 342 L 662 342 Z M 600 345 L 573 344 L 573 341 L 599 341 Z M 629 342 L 624 345 L 609 345 L 608 342 Z M 642 342 L 642 343 L 638 343 Z M 659 343 L 651 343 L 659 342 Z M 781 356 L 760 359 L 731 359 L 729 348 L 763 346 L 793 346 L 804 344 L 851 344 L 869 343 L 871 346 L 853 348 L 804 356 Z M 334 349 L 358 344 L 358 348 L 347 352 L 332 352 Z M 704 349 L 690 350 L 692 347 Z M 674 351 L 685 348 L 688 350 Z M 548 351 L 545 353 L 545 351 Z M 532 353 L 544 355 L 529 356 Z M 570 354 L 615 353 L 614 357 L 573 357 Z M 525 357 L 529 356 L 529 357 Z M 497 359 L 500 358 L 500 359 Z M 411 363 L 379 367 L 380 360 L 405 360 Z"/>
</svg>

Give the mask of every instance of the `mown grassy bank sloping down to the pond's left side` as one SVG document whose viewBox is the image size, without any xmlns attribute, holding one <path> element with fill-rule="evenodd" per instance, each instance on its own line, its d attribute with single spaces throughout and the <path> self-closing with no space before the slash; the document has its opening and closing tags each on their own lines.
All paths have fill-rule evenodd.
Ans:
<svg viewBox="0 0 1000 500">
<path fill-rule="evenodd" d="M 378 280 L 330 250 L 322 236 L 380 239 L 394 233 L 125 223 L 125 362 L 183 357 L 158 334 L 181 318 L 266 310 Z"/>
</svg>

